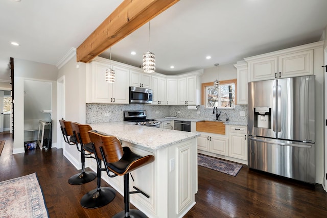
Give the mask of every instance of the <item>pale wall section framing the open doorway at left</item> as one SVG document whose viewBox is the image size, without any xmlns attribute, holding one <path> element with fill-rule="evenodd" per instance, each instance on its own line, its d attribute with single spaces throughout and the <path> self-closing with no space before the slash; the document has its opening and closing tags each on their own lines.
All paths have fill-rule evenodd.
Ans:
<svg viewBox="0 0 327 218">
<path fill-rule="evenodd" d="M 14 146 L 13 154 L 24 153 L 24 81 L 39 80 L 52 82 L 52 109 L 57 107 L 57 74 L 54 65 L 43 64 L 22 59 L 14 59 Z M 57 120 L 57 114 L 52 113 Z M 53 136 L 57 135 L 57 123 L 53 124 Z M 52 146 L 56 147 L 57 139 L 53 137 Z"/>
</svg>

